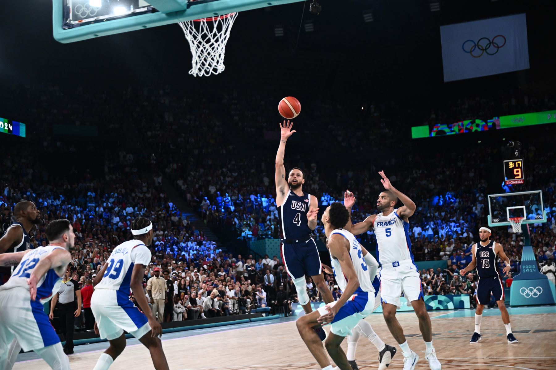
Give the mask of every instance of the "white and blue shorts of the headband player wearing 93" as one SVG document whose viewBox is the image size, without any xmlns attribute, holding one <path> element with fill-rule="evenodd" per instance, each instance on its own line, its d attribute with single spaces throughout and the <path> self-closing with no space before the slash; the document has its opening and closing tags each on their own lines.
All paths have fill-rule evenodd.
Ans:
<svg viewBox="0 0 556 370">
<path fill-rule="evenodd" d="M 102 339 L 119 338 L 123 331 L 141 338 L 151 330 L 147 316 L 130 298 L 113 289 L 97 289 L 91 297 L 91 310 Z"/>
</svg>

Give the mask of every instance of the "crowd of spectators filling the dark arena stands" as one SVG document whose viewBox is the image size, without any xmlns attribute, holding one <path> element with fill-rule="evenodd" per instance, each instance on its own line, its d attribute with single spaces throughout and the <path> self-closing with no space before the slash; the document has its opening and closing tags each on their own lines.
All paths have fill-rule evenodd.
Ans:
<svg viewBox="0 0 556 370">
<path fill-rule="evenodd" d="M 37 158 L 32 153 L 8 154 L 0 175 L 4 184 L 0 197 L 2 223 L 11 224 L 17 201 L 34 201 L 44 220 L 32 232 L 32 244 L 39 246 L 48 242 L 44 236 L 48 220 L 69 219 L 77 235 L 71 272 L 83 287 L 112 249 L 131 238 L 130 222 L 142 215 L 150 218 L 155 228 L 152 263 L 145 271 L 145 294 L 149 294 L 148 286 L 156 272 L 166 284 L 163 294 L 158 292 L 156 298 L 163 296 L 162 311 L 160 304 L 154 307 L 155 298 L 149 296 L 153 310 L 161 312 L 159 320 L 235 315 L 255 306 L 271 306 L 273 310 L 285 306 L 289 312 L 290 303 L 295 302 L 295 287 L 279 257 L 259 261 L 223 252 L 191 225 L 162 190 L 163 181 L 175 186 L 211 227 L 235 230 L 237 237 L 245 239 L 278 237 L 272 166 L 278 137 L 273 135 L 277 135 L 278 125 L 276 118 L 265 118 L 274 101 L 237 92 L 220 94 L 219 99 L 208 99 L 176 93 L 170 87 L 126 88 L 116 93 L 76 89 L 72 94 L 55 87 L 13 89 L 4 103 L 6 107 L 13 105 L 14 118 L 21 102 L 37 102 L 25 110 L 24 117 L 41 137 L 37 155 L 90 148 L 89 144 L 78 148 L 58 141 L 52 135 L 52 125 L 58 123 L 89 126 L 105 122 L 110 131 L 107 140 L 118 145 L 100 151 L 100 172 L 81 166 L 54 174 L 36 166 Z M 423 117 L 424 123 L 432 125 L 554 109 L 550 96 L 508 93 L 504 98 L 460 99 L 426 112 L 404 111 L 391 102 L 366 104 L 361 111 L 350 111 L 346 105 L 315 100 L 310 103 L 314 109 L 304 111 L 304 118 L 296 123 L 298 132 L 286 147 L 286 167 L 304 169 L 304 191 L 317 196 L 321 211 L 331 202 L 342 201 L 345 189 L 353 191 L 357 198 L 353 222 L 376 211 L 375 199 L 383 189 L 376 173 L 388 169 L 391 182 L 418 206 L 410 219 L 415 260 L 449 261 L 445 271 L 423 271 L 425 293 L 472 294 L 476 277 L 455 276 L 469 262 L 471 244 L 477 241 L 479 225 L 486 221 L 485 197 L 492 192 L 492 184 L 486 181 L 491 169 L 484 163 L 497 159 L 499 148 L 472 148 L 470 155 L 459 151 L 440 154 L 434 149 L 427 152 L 430 157 L 410 155 L 415 150 L 412 145 L 422 142 L 404 148 L 397 144 L 399 133 L 393 127 L 408 116 Z M 103 109 L 84 114 L 83 107 L 92 105 Z M 330 117 L 349 120 L 349 129 L 331 122 Z M 101 131 L 100 135 L 105 133 Z M 530 144 L 523 150 L 531 165 L 526 173 L 528 185 L 519 189 L 543 190 L 548 222 L 531 226 L 535 255 L 543 265 L 556 256 L 556 158 L 550 145 L 540 138 L 535 146 Z M 398 155 L 391 155 L 389 148 L 399 148 Z M 481 155 L 480 165 L 477 153 Z M 501 186 L 497 190 L 504 191 Z M 502 229 L 493 237 L 504 246 L 515 275 L 519 273 L 523 240 Z M 321 225 L 315 234 L 324 236 Z M 359 237 L 374 250 L 372 231 Z M 331 290 L 336 295 L 341 293 L 332 277 L 326 278 Z M 309 280 L 307 288 L 311 299 L 318 300 Z"/>
</svg>

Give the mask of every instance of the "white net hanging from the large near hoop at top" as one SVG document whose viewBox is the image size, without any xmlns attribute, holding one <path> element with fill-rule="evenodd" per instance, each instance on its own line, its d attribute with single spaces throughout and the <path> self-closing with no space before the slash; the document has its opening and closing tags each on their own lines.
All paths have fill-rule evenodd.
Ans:
<svg viewBox="0 0 556 370">
<path fill-rule="evenodd" d="M 179 23 L 191 49 L 189 74 L 197 77 L 224 72 L 226 43 L 237 14 Z"/>
</svg>

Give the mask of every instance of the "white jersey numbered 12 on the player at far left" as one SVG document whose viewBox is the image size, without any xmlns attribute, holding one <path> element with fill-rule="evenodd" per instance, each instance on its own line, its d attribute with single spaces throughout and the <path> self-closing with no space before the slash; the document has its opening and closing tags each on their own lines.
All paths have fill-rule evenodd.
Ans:
<svg viewBox="0 0 556 370">
<path fill-rule="evenodd" d="M 54 249 L 65 250 L 64 247 L 61 246 L 47 245 L 46 247 L 33 249 L 31 252 L 23 256 L 19 265 L 14 268 L 12 276 L 4 285 L 0 287 L 0 290 L 22 287 L 26 288 L 28 291 L 29 286 L 27 285 L 27 279 L 31 277 L 31 273 L 37 266 L 37 263 L 44 259 L 44 257 L 48 256 Z M 58 276 L 53 268 L 50 268 L 44 276 L 41 277 L 41 280 L 37 282 L 37 300 L 40 300 L 41 303 L 50 300 L 53 292 L 57 292 L 59 290 L 61 280 L 62 277 Z M 31 299 L 31 297 L 29 297 L 29 299 Z"/>
</svg>

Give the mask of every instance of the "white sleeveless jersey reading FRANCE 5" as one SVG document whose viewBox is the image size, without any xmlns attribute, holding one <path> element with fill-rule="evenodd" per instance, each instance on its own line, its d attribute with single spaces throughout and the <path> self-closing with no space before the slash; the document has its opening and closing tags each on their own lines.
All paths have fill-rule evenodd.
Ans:
<svg viewBox="0 0 556 370">
<path fill-rule="evenodd" d="M 381 265 L 409 259 L 415 265 L 409 239 L 409 222 L 401 219 L 397 208 L 388 216 L 383 216 L 382 212 L 376 215 L 373 230 L 378 243 L 376 257 Z"/>
</svg>

